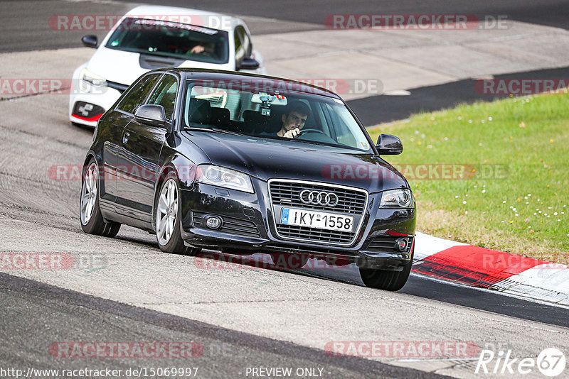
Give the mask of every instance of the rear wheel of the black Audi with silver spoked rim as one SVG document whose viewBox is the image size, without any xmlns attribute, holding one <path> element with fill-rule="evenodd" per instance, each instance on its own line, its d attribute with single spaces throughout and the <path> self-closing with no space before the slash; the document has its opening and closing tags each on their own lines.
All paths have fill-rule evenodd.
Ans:
<svg viewBox="0 0 569 379">
<path fill-rule="evenodd" d="M 99 207 L 99 167 L 94 158 L 83 167 L 81 197 L 79 201 L 79 219 L 81 229 L 88 234 L 114 237 L 120 229 L 120 224 L 107 222 L 102 218 Z"/>
</svg>

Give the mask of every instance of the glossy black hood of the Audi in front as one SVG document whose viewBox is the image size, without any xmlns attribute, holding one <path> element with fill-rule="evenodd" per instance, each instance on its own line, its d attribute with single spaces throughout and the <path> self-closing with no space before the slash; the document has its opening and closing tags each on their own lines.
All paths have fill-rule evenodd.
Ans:
<svg viewBox="0 0 569 379">
<path fill-rule="evenodd" d="M 184 132 L 211 163 L 260 180 L 288 178 L 329 182 L 379 192 L 408 188 L 405 177 L 377 155 L 325 145 L 211 132 Z"/>
</svg>

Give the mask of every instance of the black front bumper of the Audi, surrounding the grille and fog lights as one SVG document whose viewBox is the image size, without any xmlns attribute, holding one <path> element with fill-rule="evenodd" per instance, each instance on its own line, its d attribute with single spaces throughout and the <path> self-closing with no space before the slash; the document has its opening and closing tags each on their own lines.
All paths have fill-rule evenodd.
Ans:
<svg viewBox="0 0 569 379">
<path fill-rule="evenodd" d="M 363 223 L 349 246 L 280 238 L 273 222 L 267 183 L 253 180 L 255 193 L 194 183 L 181 189 L 181 235 L 186 245 L 216 248 L 231 253 L 303 254 L 327 263 L 356 263 L 360 267 L 402 270 L 413 256 L 415 209 L 378 209 L 381 194 L 370 194 Z M 216 230 L 208 229 L 204 216 L 223 219 Z M 404 251 L 395 241 L 408 242 Z"/>
</svg>

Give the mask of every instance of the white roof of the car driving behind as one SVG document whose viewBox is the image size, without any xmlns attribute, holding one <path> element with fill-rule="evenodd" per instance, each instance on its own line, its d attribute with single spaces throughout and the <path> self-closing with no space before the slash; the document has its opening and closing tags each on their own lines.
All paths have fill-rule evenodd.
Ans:
<svg viewBox="0 0 569 379">
<path fill-rule="evenodd" d="M 232 31 L 235 26 L 243 24 L 243 21 L 240 18 L 226 14 L 200 11 L 198 9 L 180 8 L 176 6 L 141 5 L 131 9 L 124 15 L 124 17 L 132 16 L 179 23 L 190 23 L 191 25 L 204 26 L 206 28 L 218 29 L 220 31 Z M 188 22 L 183 17 L 178 16 L 187 16 L 186 18 L 189 18 L 191 21 Z"/>
</svg>

